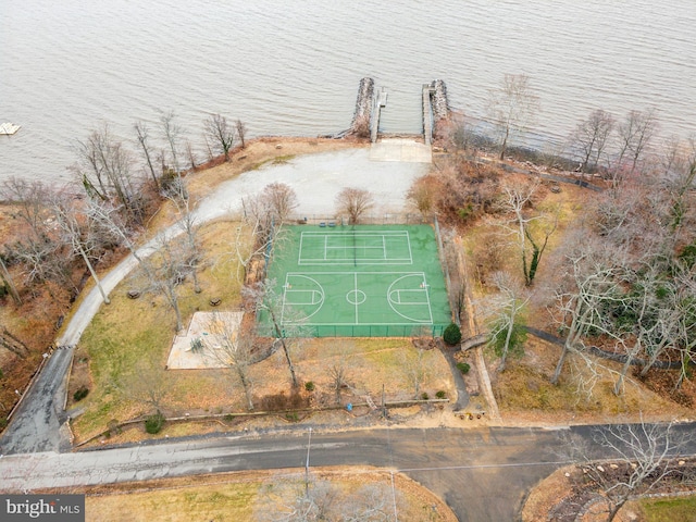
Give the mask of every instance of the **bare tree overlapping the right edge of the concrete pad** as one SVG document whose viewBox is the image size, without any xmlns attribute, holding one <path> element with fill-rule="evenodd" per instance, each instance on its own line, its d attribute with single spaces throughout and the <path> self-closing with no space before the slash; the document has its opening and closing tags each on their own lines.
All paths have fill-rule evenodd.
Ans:
<svg viewBox="0 0 696 522">
<path fill-rule="evenodd" d="M 214 313 L 209 330 L 217 346 L 208 347 L 208 353 L 232 371 L 244 389 L 247 408 L 253 410 L 253 378 L 250 372 L 254 363 L 253 333 L 243 330 L 237 321 L 225 313 Z"/>
</svg>

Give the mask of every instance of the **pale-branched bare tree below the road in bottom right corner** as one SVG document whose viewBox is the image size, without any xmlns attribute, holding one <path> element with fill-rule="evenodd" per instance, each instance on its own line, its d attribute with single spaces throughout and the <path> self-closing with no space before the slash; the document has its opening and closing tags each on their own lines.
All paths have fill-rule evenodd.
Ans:
<svg viewBox="0 0 696 522">
<path fill-rule="evenodd" d="M 607 521 L 611 522 L 632 497 L 655 490 L 678 470 L 679 451 L 693 435 L 676 432 L 667 424 L 619 424 L 595 428 L 593 442 L 610 457 L 593 458 L 587 445 L 577 437 L 570 440 L 572 459 L 592 481 L 607 502 Z"/>
</svg>

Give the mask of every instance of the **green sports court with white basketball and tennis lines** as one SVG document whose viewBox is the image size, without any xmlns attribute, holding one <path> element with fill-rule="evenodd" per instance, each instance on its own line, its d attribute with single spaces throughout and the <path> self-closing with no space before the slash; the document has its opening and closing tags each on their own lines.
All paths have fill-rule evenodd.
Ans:
<svg viewBox="0 0 696 522">
<path fill-rule="evenodd" d="M 442 335 L 449 324 L 431 226 L 330 223 L 284 234 L 268 276 L 282 297 L 287 332 L 301 324 L 303 335 L 316 337 L 399 337 Z"/>
</svg>

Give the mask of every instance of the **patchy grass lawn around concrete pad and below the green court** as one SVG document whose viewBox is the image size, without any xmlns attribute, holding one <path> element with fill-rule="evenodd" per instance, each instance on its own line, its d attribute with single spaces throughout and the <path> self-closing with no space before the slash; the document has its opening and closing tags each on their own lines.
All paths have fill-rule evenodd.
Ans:
<svg viewBox="0 0 696 522">
<path fill-rule="evenodd" d="M 236 276 L 236 257 L 229 243 L 237 235 L 236 223 L 214 223 L 201 229 L 206 249 L 200 271 L 201 294 L 192 291 L 186 281 L 181 287 L 184 323 L 197 310 L 212 310 L 209 300 L 222 298 L 216 310 L 238 309 L 240 283 Z M 128 299 L 130 288 L 141 288 L 142 282 L 133 274 L 112 293 L 112 303 L 102 307 L 83 334 L 75 353 L 70 384 L 70 397 L 80 386 L 89 395 L 70 408 L 79 407 L 84 413 L 73 422 L 76 440 L 84 442 L 105 431 L 113 421 L 124 422 L 153 412 L 145 400 L 148 390 L 142 383 L 159 383 L 162 389 L 162 411 L 167 417 L 222 414 L 244 412 L 245 400 L 240 384 L 228 369 L 165 370 L 166 358 L 174 336 L 174 314 L 159 296 L 145 294 Z M 364 396 L 378 403 L 382 390 L 387 401 L 415 398 L 414 377 L 419 378 L 419 396 L 435 397 L 439 390 L 452 397 L 453 384 L 449 366 L 437 350 L 420 353 L 410 339 L 352 338 L 307 339 L 293 348 L 293 358 L 302 382 L 312 381 L 316 406 L 336 405 L 331 370 L 345 366 L 347 387 L 341 390 L 341 403 L 364 402 Z M 253 396 L 257 408 L 270 395 L 288 393 L 290 376 L 282 350 L 251 368 Z M 302 388 L 302 394 L 307 391 Z M 167 424 L 159 436 L 177 436 L 220 430 L 220 423 Z M 128 442 L 146 437 L 141 424 L 136 430 L 112 437 L 111 442 Z"/>
</svg>

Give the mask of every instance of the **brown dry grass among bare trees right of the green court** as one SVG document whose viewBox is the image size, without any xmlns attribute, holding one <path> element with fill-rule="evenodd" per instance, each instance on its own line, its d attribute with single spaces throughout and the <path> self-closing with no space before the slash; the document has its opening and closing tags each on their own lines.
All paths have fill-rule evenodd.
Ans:
<svg viewBox="0 0 696 522">
<path fill-rule="evenodd" d="M 547 307 L 552 302 L 544 296 L 550 295 L 545 288 L 552 287 L 556 276 L 554 251 L 564 240 L 571 222 L 583 217 L 588 195 L 579 187 L 562 185 L 560 192 L 543 189 L 542 196 L 543 198 L 536 201 L 536 207 L 558 209 L 559 222 L 539 265 L 535 279 L 535 287 L 539 291 L 527 306 L 526 320 L 531 326 L 548 331 L 552 328 L 552 322 Z M 486 246 L 492 243 L 492 238 L 500 241 L 493 252 L 497 257 L 495 261 L 499 263 L 495 270 L 518 274 L 520 278 L 522 276 L 520 254 L 509 243 L 510 238 L 501 232 L 498 220 L 488 220 L 477 223 L 463 235 L 464 250 L 470 261 L 470 277 L 474 283 L 474 300 L 482 299 L 493 291 L 486 285 L 486 276 L 490 269 L 487 260 L 492 256 L 490 249 L 486 249 Z M 692 413 L 689 409 L 670 400 L 664 389 L 656 393 L 650 386 L 635 378 L 629 378 L 624 394 L 617 397 L 612 387 L 620 366 L 599 358 L 591 358 L 600 366 L 599 377 L 592 387 L 591 395 L 586 395 L 579 385 L 581 381 L 587 380 L 589 372 L 573 357 L 566 363 L 560 383 L 554 386 L 549 381 L 560 356 L 560 347 L 531 335 L 525 344 L 525 356 L 521 360 L 510 360 L 502 374 L 496 373 L 497 361 L 493 350 L 486 350 L 485 353 L 494 394 L 506 423 L 629 420 L 637 419 L 641 412 L 645 418 L 658 420 Z M 656 386 L 652 388 L 660 391 Z M 687 382 L 684 388 L 691 390 L 694 386 Z"/>
</svg>

